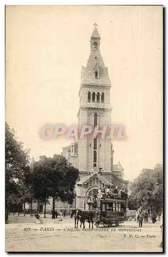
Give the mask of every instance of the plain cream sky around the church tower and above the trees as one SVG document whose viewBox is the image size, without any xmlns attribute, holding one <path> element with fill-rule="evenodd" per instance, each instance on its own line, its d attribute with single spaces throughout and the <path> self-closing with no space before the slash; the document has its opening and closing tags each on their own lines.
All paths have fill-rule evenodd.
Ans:
<svg viewBox="0 0 168 257">
<path fill-rule="evenodd" d="M 162 7 L 7 6 L 6 121 L 31 157 L 60 154 L 73 139 L 44 140 L 45 124 L 77 124 L 81 66 L 94 23 L 111 80 L 111 123 L 124 124 L 114 163 L 132 180 L 162 163 Z"/>
</svg>

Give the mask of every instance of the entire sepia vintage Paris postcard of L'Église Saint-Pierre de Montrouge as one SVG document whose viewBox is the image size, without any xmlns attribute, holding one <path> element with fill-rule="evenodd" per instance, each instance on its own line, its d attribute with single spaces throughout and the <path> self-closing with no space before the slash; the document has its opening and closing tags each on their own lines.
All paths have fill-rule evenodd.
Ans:
<svg viewBox="0 0 168 257">
<path fill-rule="evenodd" d="M 7 252 L 163 252 L 163 6 L 6 6 Z"/>
</svg>

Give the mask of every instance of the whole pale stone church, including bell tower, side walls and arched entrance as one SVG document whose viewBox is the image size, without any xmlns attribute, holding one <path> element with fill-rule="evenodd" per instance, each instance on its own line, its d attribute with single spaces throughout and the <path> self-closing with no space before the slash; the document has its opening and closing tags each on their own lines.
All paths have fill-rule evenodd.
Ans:
<svg viewBox="0 0 168 257">
<path fill-rule="evenodd" d="M 90 38 L 90 56 L 82 66 L 78 110 L 79 130 L 83 125 L 102 127 L 111 125 L 110 88 L 108 68 L 100 53 L 100 35 L 97 24 Z M 76 200 L 71 208 L 86 209 L 87 198 L 99 187 L 117 186 L 127 193 L 128 181 L 120 162 L 113 163 L 113 144 L 110 138 L 86 135 L 63 148 L 62 155 L 79 169 L 80 181 L 76 185 Z"/>
</svg>

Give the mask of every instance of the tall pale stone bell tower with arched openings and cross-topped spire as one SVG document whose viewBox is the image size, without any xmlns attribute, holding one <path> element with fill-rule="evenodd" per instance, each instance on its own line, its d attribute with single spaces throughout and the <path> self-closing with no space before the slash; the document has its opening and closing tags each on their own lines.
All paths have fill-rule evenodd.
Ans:
<svg viewBox="0 0 168 257">
<path fill-rule="evenodd" d="M 108 69 L 100 53 L 100 35 L 97 24 L 90 38 L 90 56 L 86 67 L 81 70 L 81 87 L 79 90 L 80 107 L 78 125 L 90 125 L 92 128 L 111 125 L 110 88 Z M 82 173 L 111 172 L 111 140 L 96 137 L 93 134 L 79 138 L 79 171 Z"/>
</svg>

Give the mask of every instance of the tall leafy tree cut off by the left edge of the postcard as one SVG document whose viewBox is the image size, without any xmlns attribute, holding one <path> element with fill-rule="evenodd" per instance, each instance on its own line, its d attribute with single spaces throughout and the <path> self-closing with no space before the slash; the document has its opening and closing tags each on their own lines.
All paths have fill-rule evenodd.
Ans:
<svg viewBox="0 0 168 257">
<path fill-rule="evenodd" d="M 21 202 L 20 182 L 29 173 L 29 150 L 24 150 L 23 142 L 17 141 L 15 132 L 5 124 L 5 204 Z"/>
</svg>

